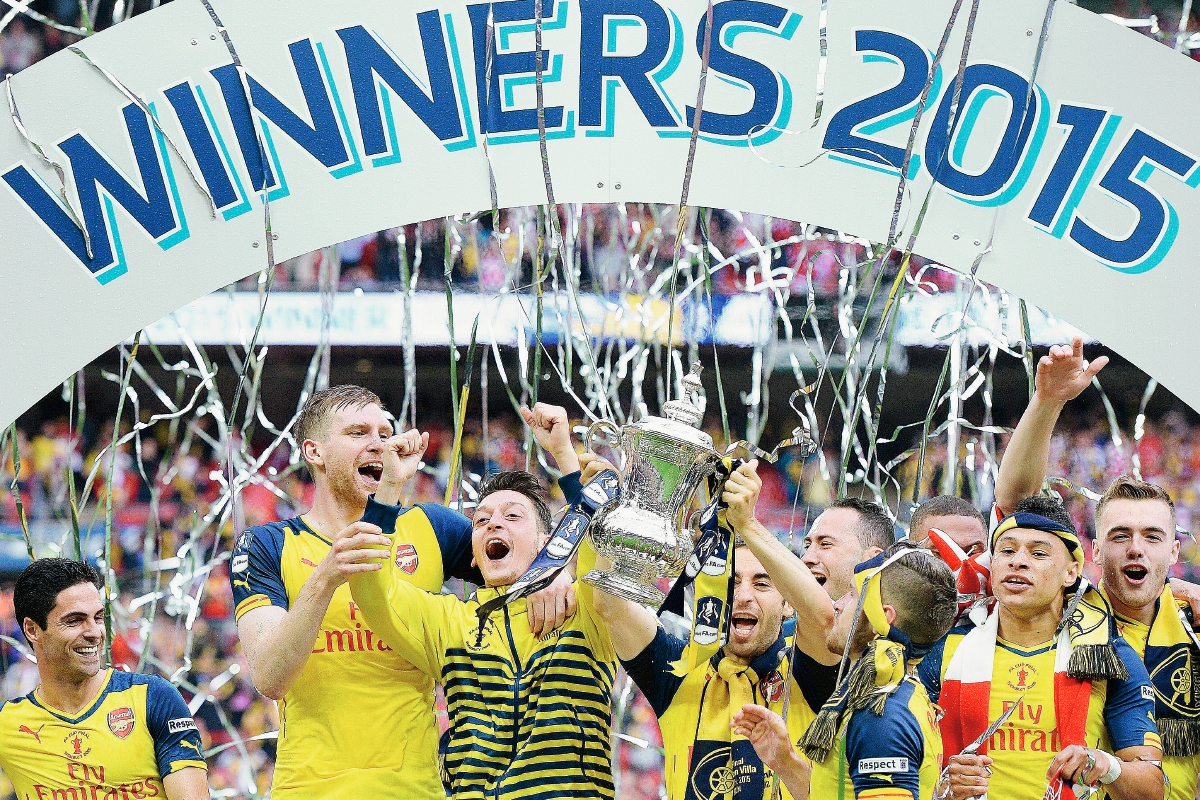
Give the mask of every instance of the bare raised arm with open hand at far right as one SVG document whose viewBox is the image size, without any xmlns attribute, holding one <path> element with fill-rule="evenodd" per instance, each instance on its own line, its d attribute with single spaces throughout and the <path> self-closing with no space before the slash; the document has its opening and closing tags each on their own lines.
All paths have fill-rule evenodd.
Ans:
<svg viewBox="0 0 1200 800">
<path fill-rule="evenodd" d="M 996 480 L 996 505 L 1012 513 L 1016 504 L 1036 494 L 1045 481 L 1054 426 L 1069 401 L 1087 389 L 1092 378 L 1109 362 L 1106 355 L 1088 363 L 1084 359 L 1084 339 L 1056 344 L 1038 360 L 1034 392 L 1013 438 L 1004 450 Z"/>
</svg>

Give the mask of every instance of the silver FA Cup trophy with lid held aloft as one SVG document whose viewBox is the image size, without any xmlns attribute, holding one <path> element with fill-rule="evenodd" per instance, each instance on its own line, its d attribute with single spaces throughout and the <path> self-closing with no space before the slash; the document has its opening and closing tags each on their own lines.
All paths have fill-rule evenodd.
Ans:
<svg viewBox="0 0 1200 800">
<path fill-rule="evenodd" d="M 622 427 L 604 420 L 587 433 L 588 450 L 604 432 L 624 458 L 620 503 L 598 515 L 588 529 L 596 553 L 608 558 L 612 569 L 592 570 L 583 579 L 643 606 L 662 603 L 655 581 L 678 577 L 691 557 L 684 515 L 721 461 L 713 438 L 698 429 L 704 416 L 698 407 L 700 369 L 692 365 L 683 379 L 684 397 L 666 403 L 664 416 L 644 416 Z"/>
</svg>

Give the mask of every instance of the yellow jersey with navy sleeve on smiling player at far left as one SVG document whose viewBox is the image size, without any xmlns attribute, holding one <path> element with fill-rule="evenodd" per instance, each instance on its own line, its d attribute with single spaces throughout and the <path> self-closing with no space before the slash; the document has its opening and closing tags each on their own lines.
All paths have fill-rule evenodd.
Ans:
<svg viewBox="0 0 1200 800">
<path fill-rule="evenodd" d="M 76 716 L 37 690 L 0 703 L 0 771 L 23 800 L 166 798 L 162 778 L 188 766 L 205 769 L 200 734 L 158 675 L 109 669 Z"/>
</svg>

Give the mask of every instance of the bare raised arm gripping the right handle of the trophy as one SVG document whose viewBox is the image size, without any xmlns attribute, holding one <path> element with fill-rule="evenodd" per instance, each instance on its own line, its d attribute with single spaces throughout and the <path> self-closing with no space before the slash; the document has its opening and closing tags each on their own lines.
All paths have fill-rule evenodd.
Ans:
<svg viewBox="0 0 1200 800">
<path fill-rule="evenodd" d="M 833 628 L 833 601 L 804 561 L 754 516 L 761 491 L 758 461 L 738 467 L 721 494 L 728 505 L 725 519 L 767 569 L 779 594 L 796 610 L 797 620 L 803 621 L 796 626 L 796 645 L 817 663 L 835 664 L 838 656 L 826 646 L 826 634 Z"/>
</svg>

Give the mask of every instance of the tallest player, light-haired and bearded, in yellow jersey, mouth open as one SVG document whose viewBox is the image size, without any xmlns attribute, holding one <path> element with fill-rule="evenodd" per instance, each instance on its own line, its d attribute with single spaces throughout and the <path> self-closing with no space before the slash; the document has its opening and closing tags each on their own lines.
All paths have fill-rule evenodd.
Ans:
<svg viewBox="0 0 1200 800">
<path fill-rule="evenodd" d="M 346 582 L 366 565 L 334 545 L 338 531 L 346 541 L 364 530 L 358 521 L 384 477 L 384 443 L 391 437 L 391 420 L 372 392 L 335 386 L 314 393 L 295 425 L 316 483 L 312 510 L 251 528 L 234 549 L 230 579 L 242 650 L 254 686 L 280 700 L 276 800 L 444 796 L 432 676 L 414 669 L 364 619 Z M 414 431 L 401 437 L 413 452 L 401 465 L 407 480 L 428 438 Z M 394 517 L 400 513 L 392 510 Z M 462 515 L 422 504 L 392 524 L 404 542 L 394 554 L 397 579 L 430 591 L 450 576 L 482 583 L 472 565 L 470 522 Z M 569 594 L 564 578 L 530 599 L 529 625 L 538 636 L 563 622 Z"/>
</svg>

